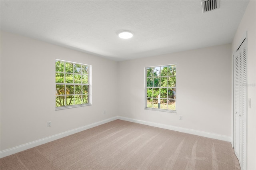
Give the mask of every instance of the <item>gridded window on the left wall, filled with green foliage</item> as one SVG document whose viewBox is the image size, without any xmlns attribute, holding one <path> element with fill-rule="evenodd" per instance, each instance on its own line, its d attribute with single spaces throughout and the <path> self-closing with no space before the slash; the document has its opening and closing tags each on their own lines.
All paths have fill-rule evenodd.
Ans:
<svg viewBox="0 0 256 170">
<path fill-rule="evenodd" d="M 56 109 L 90 105 L 90 65 L 55 61 Z"/>
</svg>

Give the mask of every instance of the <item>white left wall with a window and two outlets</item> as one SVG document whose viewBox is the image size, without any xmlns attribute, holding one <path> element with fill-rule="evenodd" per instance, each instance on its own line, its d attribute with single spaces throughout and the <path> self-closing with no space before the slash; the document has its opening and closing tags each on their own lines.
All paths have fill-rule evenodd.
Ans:
<svg viewBox="0 0 256 170">
<path fill-rule="evenodd" d="M 55 111 L 55 59 L 92 65 L 91 106 Z M 1 151 L 117 116 L 117 68 L 116 61 L 1 32 Z"/>
</svg>

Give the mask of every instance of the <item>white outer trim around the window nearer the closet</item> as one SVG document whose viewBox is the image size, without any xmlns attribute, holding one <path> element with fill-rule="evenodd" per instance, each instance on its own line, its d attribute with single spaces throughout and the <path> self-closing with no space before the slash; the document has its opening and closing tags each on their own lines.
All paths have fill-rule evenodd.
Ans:
<svg viewBox="0 0 256 170">
<path fill-rule="evenodd" d="M 154 66 L 148 66 L 148 67 L 144 67 L 144 92 L 145 92 L 145 96 L 144 96 L 144 101 L 145 101 L 145 105 L 144 105 L 144 109 L 145 110 L 150 110 L 150 111 L 162 111 L 162 112 L 169 112 L 169 113 L 177 113 L 177 105 L 175 104 L 175 109 L 176 110 L 167 110 L 167 109 L 159 109 L 159 108 L 150 108 L 147 107 L 147 68 L 150 67 L 164 67 L 164 66 L 172 66 L 175 65 L 176 66 L 176 70 L 177 70 L 177 64 L 167 64 L 167 65 L 154 65 Z M 160 76 L 160 77 L 165 77 L 165 76 Z M 174 76 L 173 76 L 174 77 Z M 175 77 L 177 78 L 177 72 Z M 166 88 L 166 87 L 159 87 L 160 88 Z M 176 82 L 176 86 L 175 86 L 175 93 L 177 94 L 177 82 Z M 153 97 L 154 98 L 154 97 Z M 177 102 L 177 95 L 175 96 L 175 103 Z"/>
</svg>

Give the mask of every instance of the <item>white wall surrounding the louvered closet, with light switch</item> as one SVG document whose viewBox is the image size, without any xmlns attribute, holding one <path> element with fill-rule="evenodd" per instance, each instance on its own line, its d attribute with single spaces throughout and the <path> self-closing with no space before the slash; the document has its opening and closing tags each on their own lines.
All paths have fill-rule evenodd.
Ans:
<svg viewBox="0 0 256 170">
<path fill-rule="evenodd" d="M 234 53 L 244 38 L 247 31 L 248 47 L 248 98 L 251 99 L 251 108 L 248 108 L 248 133 L 247 133 L 247 168 L 256 169 L 256 1 L 251 0 L 240 22 L 240 25 L 232 42 L 232 53 Z"/>
</svg>

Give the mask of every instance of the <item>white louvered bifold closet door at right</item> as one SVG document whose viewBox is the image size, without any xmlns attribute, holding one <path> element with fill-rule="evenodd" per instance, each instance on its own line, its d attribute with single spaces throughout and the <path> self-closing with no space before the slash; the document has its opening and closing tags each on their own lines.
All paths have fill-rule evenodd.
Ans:
<svg viewBox="0 0 256 170">
<path fill-rule="evenodd" d="M 234 150 L 242 169 L 246 169 L 247 80 L 246 43 L 234 54 Z"/>
</svg>

